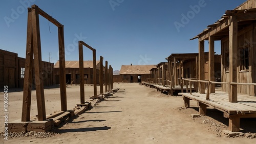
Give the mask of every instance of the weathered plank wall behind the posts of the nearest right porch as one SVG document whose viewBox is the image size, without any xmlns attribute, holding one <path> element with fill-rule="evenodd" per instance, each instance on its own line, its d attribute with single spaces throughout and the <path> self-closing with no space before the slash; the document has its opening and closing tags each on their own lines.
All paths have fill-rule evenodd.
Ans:
<svg viewBox="0 0 256 144">
<path fill-rule="evenodd" d="M 237 82 L 239 83 L 252 83 L 256 82 L 255 79 L 255 53 L 256 53 L 256 45 L 255 45 L 255 35 L 256 32 L 256 23 L 243 28 L 243 30 L 238 32 L 238 49 L 240 47 L 248 46 L 249 47 L 249 69 L 248 70 L 241 70 L 241 59 L 239 56 L 239 50 L 237 51 Z M 222 81 L 228 82 L 229 78 L 229 66 L 228 66 L 228 52 L 229 52 L 229 39 L 228 37 L 223 38 L 221 40 L 221 47 L 222 47 Z M 227 84 L 222 84 L 222 89 L 224 92 L 228 92 Z M 253 85 L 238 85 L 238 93 L 240 94 L 247 94 L 255 96 L 255 87 Z"/>
</svg>

